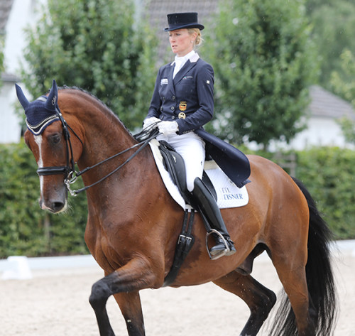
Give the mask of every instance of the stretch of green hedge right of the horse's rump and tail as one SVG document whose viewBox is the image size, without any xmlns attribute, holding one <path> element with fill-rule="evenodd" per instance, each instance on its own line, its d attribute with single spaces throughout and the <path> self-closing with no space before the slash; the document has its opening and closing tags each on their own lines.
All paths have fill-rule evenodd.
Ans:
<svg viewBox="0 0 355 336">
<path fill-rule="evenodd" d="M 297 153 L 305 183 L 337 239 L 355 239 L 355 151 L 313 148 Z"/>
</svg>

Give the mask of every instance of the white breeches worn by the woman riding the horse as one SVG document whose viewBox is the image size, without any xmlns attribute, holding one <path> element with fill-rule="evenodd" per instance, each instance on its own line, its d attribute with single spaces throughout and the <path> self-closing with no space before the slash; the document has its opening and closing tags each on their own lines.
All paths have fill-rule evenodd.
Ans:
<svg viewBox="0 0 355 336">
<path fill-rule="evenodd" d="M 160 134 L 157 140 L 168 142 L 184 159 L 187 190 L 191 192 L 194 189 L 195 178 L 202 178 L 205 157 L 204 141 L 194 132 L 170 136 Z"/>
</svg>

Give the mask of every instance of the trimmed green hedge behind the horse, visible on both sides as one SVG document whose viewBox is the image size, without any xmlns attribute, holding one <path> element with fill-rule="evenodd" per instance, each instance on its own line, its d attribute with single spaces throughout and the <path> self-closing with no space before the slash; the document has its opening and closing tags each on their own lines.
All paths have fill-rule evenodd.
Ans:
<svg viewBox="0 0 355 336">
<path fill-rule="evenodd" d="M 258 154 L 272 158 L 270 153 Z M 1 145 L 0 162 L 0 258 L 87 253 L 85 195 L 69 197 L 65 214 L 50 214 L 38 205 L 37 166 L 26 145 Z M 310 190 L 337 239 L 355 239 L 355 152 L 299 151 L 297 178 Z"/>
</svg>

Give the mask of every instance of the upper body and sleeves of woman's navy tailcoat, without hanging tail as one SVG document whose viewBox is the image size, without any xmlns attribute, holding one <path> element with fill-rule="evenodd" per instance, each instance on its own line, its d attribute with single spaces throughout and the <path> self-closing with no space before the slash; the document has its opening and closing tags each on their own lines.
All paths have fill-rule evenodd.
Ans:
<svg viewBox="0 0 355 336">
<path fill-rule="evenodd" d="M 148 117 L 176 121 L 179 134 L 199 129 L 212 119 L 214 73 L 195 54 L 175 75 L 175 62 L 160 67 Z"/>
</svg>

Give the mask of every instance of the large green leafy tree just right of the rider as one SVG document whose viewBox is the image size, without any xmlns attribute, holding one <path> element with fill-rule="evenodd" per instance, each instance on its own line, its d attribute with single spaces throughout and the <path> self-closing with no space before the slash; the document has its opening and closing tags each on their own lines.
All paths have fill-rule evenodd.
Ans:
<svg viewBox="0 0 355 336">
<path fill-rule="evenodd" d="M 317 75 L 304 9 L 302 1 L 223 3 L 208 41 L 219 136 L 267 148 L 302 130 L 307 88 Z"/>
</svg>

